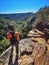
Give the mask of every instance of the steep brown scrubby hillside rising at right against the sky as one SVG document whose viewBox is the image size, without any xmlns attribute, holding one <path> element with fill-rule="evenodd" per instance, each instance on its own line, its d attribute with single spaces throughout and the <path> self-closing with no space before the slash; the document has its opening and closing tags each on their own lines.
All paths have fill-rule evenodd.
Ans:
<svg viewBox="0 0 49 65">
<path fill-rule="evenodd" d="M 34 21 L 34 22 L 33 22 Z M 31 20 L 32 26 L 41 29 L 48 25 L 49 28 L 49 6 L 40 8 Z"/>
</svg>

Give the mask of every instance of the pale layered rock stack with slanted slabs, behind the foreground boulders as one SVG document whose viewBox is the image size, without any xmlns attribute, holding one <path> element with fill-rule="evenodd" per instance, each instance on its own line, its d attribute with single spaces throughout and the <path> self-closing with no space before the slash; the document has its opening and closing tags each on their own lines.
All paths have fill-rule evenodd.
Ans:
<svg viewBox="0 0 49 65">
<path fill-rule="evenodd" d="M 44 36 L 44 33 L 39 31 L 38 29 L 33 29 L 31 30 L 29 33 L 28 33 L 28 37 L 43 37 Z"/>
</svg>

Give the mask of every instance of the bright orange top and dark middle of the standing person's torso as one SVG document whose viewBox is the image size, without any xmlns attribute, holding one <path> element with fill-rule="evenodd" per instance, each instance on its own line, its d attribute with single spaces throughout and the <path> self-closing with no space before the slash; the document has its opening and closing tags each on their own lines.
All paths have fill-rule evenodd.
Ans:
<svg viewBox="0 0 49 65">
<path fill-rule="evenodd" d="M 16 42 L 16 41 L 20 41 L 20 37 L 19 37 L 19 33 L 15 32 L 14 34 L 11 33 L 7 33 L 7 38 L 8 40 L 12 41 L 12 42 Z"/>
</svg>

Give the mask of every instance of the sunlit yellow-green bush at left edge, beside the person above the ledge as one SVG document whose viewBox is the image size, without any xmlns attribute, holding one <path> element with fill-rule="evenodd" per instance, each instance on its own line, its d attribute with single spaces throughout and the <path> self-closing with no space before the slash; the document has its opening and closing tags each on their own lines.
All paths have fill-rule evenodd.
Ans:
<svg viewBox="0 0 49 65">
<path fill-rule="evenodd" d="M 10 46 L 10 42 L 4 37 L 2 41 L 0 41 L 0 54 L 5 51 Z"/>
</svg>

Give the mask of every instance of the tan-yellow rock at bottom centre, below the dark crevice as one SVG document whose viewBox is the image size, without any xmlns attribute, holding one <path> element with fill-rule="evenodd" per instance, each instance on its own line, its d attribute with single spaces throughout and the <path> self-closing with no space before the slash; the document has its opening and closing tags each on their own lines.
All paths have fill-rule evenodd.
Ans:
<svg viewBox="0 0 49 65">
<path fill-rule="evenodd" d="M 23 55 L 21 59 L 19 59 L 19 65 L 33 65 L 34 63 L 34 57 L 33 56 L 28 56 L 28 55 Z"/>
</svg>

